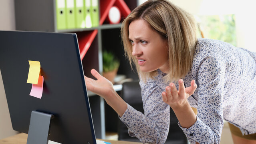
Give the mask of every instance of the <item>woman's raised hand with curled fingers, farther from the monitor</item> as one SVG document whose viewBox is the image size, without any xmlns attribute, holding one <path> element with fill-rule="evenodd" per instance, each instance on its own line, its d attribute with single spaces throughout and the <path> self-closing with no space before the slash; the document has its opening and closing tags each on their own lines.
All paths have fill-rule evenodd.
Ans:
<svg viewBox="0 0 256 144">
<path fill-rule="evenodd" d="M 162 92 L 163 102 L 169 104 L 171 108 L 182 108 L 188 101 L 187 98 L 194 94 L 197 85 L 195 80 L 191 81 L 191 86 L 185 88 L 183 80 L 179 80 L 179 90 L 176 89 L 175 84 L 170 83 L 166 86 L 165 92 Z"/>
</svg>

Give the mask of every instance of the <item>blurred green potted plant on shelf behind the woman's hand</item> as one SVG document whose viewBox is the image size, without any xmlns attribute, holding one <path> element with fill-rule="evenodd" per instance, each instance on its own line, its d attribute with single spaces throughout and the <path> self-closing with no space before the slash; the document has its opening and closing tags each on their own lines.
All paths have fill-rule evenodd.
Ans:
<svg viewBox="0 0 256 144">
<path fill-rule="evenodd" d="M 120 62 L 112 52 L 103 52 L 103 76 L 114 84 Z"/>
</svg>

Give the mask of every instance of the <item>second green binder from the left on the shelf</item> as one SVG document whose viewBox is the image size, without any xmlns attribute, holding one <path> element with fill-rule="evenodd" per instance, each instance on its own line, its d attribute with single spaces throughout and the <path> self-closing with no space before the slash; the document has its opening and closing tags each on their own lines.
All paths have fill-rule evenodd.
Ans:
<svg viewBox="0 0 256 144">
<path fill-rule="evenodd" d="M 67 28 L 76 28 L 75 0 L 66 0 Z"/>
</svg>

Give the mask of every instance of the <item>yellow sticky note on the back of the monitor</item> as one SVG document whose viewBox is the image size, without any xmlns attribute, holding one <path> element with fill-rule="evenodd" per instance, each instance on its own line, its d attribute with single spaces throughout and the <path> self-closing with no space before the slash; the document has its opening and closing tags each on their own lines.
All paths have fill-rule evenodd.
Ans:
<svg viewBox="0 0 256 144">
<path fill-rule="evenodd" d="M 28 60 L 28 62 L 29 62 L 29 71 L 28 71 L 27 83 L 37 84 L 38 78 L 39 78 L 39 73 L 40 73 L 40 68 L 41 68 L 40 62 L 32 61 L 32 60 Z"/>
</svg>

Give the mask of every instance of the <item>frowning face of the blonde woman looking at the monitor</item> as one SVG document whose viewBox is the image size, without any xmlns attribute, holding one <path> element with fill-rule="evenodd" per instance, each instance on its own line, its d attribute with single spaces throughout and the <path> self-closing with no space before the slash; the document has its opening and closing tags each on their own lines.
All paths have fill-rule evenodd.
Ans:
<svg viewBox="0 0 256 144">
<path fill-rule="evenodd" d="M 158 68 L 167 73 L 169 70 L 167 40 L 152 30 L 142 19 L 134 20 L 129 25 L 129 40 L 132 55 L 137 58 L 142 72 L 152 72 Z"/>
</svg>

